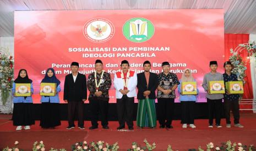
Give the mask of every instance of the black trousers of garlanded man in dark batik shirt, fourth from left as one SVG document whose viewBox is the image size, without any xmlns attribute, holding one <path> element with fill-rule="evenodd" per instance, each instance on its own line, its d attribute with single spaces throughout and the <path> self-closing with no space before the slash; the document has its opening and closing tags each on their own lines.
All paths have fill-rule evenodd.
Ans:
<svg viewBox="0 0 256 151">
<path fill-rule="evenodd" d="M 107 113 L 108 113 L 108 101 L 98 100 L 97 98 L 90 98 L 90 110 L 91 110 L 91 125 L 94 127 L 98 126 L 98 117 L 100 114 L 101 125 L 107 126 Z"/>
</svg>

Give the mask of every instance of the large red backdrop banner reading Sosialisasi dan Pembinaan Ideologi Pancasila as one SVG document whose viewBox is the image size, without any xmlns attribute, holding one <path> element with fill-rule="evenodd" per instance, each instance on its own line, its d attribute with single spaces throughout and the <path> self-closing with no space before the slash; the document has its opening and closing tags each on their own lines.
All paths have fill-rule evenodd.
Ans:
<svg viewBox="0 0 256 151">
<path fill-rule="evenodd" d="M 39 86 L 47 68 L 56 70 L 63 88 L 72 61 L 79 62 L 80 72 L 88 77 L 96 59 L 104 62 L 112 79 L 122 60 L 137 73 L 143 71 L 145 60 L 151 61 L 155 73 L 169 61 L 178 78 L 190 68 L 199 86 L 198 102 L 206 102 L 201 83 L 209 61 L 220 65 L 225 61 L 223 9 L 15 11 L 14 15 L 15 77 L 20 68 L 28 70 L 34 103 L 40 102 Z M 224 68 L 218 71 L 223 73 Z M 60 98 L 63 102 L 63 90 Z M 110 102 L 116 102 L 113 86 Z"/>
</svg>

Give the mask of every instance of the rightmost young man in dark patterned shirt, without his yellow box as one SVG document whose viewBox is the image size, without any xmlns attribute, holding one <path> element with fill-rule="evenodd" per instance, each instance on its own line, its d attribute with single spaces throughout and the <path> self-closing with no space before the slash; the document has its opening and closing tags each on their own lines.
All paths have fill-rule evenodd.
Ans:
<svg viewBox="0 0 256 151">
<path fill-rule="evenodd" d="M 223 74 L 224 82 L 232 82 L 237 81 L 237 75 L 231 73 L 232 71 L 232 63 L 230 61 L 226 61 L 224 63 L 225 73 Z M 226 127 L 231 127 L 230 121 L 230 111 L 232 110 L 234 117 L 234 124 L 236 127 L 243 127 L 243 125 L 239 124 L 239 95 L 238 94 L 229 94 L 226 92 L 224 94 L 224 106 L 225 106 L 225 117 L 226 117 Z"/>
</svg>

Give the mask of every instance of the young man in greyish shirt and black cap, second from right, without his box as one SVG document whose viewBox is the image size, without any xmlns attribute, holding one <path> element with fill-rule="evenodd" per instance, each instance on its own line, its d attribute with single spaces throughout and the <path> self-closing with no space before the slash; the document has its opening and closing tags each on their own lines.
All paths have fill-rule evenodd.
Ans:
<svg viewBox="0 0 256 151">
<path fill-rule="evenodd" d="M 221 106 L 223 94 L 210 94 L 208 89 L 208 84 L 210 81 L 220 81 L 223 80 L 223 75 L 217 72 L 217 61 L 210 61 L 211 72 L 204 75 L 203 88 L 206 92 L 207 104 L 208 104 L 208 114 L 209 114 L 209 126 L 213 128 L 213 119 L 215 113 L 215 124 L 216 127 L 221 128 L 220 119 L 221 119 Z"/>
</svg>

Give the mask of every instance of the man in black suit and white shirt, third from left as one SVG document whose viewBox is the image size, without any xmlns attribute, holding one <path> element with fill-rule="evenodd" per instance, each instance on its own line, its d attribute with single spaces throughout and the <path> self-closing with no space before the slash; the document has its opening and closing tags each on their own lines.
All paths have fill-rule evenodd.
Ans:
<svg viewBox="0 0 256 151">
<path fill-rule="evenodd" d="M 86 77 L 78 73 L 79 63 L 71 63 L 71 74 L 66 75 L 64 83 L 64 101 L 68 102 L 68 127 L 75 127 L 75 110 L 78 111 L 78 127 L 84 129 L 84 101 L 87 98 Z"/>
</svg>

